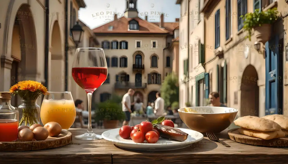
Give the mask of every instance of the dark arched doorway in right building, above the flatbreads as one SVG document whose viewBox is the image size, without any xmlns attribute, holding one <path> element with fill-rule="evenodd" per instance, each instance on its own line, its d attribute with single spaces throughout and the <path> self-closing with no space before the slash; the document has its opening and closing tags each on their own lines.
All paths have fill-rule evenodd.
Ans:
<svg viewBox="0 0 288 164">
<path fill-rule="evenodd" d="M 254 66 L 248 65 L 243 71 L 241 80 L 240 115 L 259 116 L 259 87 L 258 75 Z"/>
</svg>

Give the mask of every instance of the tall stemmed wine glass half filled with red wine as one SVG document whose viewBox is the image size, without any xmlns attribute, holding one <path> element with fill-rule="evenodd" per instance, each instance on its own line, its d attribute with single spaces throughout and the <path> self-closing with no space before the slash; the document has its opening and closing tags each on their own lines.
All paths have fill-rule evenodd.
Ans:
<svg viewBox="0 0 288 164">
<path fill-rule="evenodd" d="M 88 130 L 85 134 L 75 136 L 79 140 L 99 140 L 101 135 L 94 134 L 91 126 L 91 100 L 93 92 L 107 78 L 106 58 L 102 48 L 77 48 L 72 66 L 74 81 L 82 87 L 88 97 Z"/>
</svg>

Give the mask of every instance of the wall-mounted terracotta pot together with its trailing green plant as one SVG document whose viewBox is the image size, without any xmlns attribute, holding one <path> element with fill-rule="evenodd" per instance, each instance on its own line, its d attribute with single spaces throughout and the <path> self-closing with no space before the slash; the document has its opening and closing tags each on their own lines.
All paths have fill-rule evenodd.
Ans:
<svg viewBox="0 0 288 164">
<path fill-rule="evenodd" d="M 255 12 L 242 15 L 241 18 L 244 20 L 243 29 L 248 31 L 246 37 L 249 41 L 251 41 L 253 28 L 257 41 L 265 44 L 271 37 L 272 24 L 279 18 L 279 12 L 276 7 L 261 12 L 256 9 Z"/>
</svg>

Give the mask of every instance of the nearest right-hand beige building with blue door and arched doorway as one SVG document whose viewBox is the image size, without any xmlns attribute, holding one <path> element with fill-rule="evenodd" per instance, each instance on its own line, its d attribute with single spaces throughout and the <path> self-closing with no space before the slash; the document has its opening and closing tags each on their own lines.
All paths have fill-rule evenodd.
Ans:
<svg viewBox="0 0 288 164">
<path fill-rule="evenodd" d="M 221 102 L 239 109 L 239 116 L 287 115 L 287 1 L 206 0 L 204 3 L 209 91 L 218 91 Z M 265 11 L 273 7 L 278 7 L 281 18 L 273 25 L 272 37 L 265 48 L 261 43 L 257 51 L 255 36 L 251 36 L 251 41 L 245 39 L 247 32 L 242 29 L 239 16 L 257 8 Z"/>
</svg>

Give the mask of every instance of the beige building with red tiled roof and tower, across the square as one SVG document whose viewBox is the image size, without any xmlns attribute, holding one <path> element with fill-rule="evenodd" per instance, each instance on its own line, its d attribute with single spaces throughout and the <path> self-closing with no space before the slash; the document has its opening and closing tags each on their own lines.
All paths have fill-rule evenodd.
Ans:
<svg viewBox="0 0 288 164">
<path fill-rule="evenodd" d="M 137 1 L 127 0 L 124 17 L 117 18 L 93 31 L 104 49 L 108 66 L 106 81 L 96 89 L 95 102 L 109 100 L 113 94 L 123 96 L 135 90 L 146 106 L 156 100 L 165 76 L 178 60 L 178 22 L 148 22 L 138 17 Z"/>
</svg>

